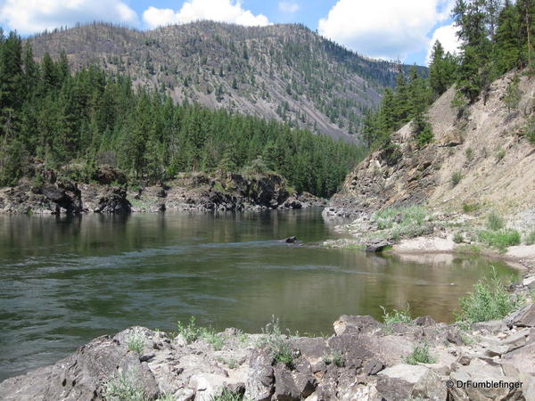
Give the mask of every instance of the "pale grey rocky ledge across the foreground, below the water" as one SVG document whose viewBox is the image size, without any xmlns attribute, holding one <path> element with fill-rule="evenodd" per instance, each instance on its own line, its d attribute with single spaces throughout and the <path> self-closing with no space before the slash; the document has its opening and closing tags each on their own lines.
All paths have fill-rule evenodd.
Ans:
<svg viewBox="0 0 535 401">
<path fill-rule="evenodd" d="M 123 399 L 112 392 L 128 390 L 131 399 L 182 401 L 535 399 L 535 304 L 465 332 L 429 316 L 386 326 L 343 315 L 333 326 L 330 338 L 226 329 L 189 344 L 182 335 L 133 327 L 3 381 L 0 398 Z M 407 363 L 418 344 L 429 347 L 432 364 Z M 522 387 L 449 389 L 448 381 Z M 218 397 L 222 392 L 234 398 Z"/>
</svg>

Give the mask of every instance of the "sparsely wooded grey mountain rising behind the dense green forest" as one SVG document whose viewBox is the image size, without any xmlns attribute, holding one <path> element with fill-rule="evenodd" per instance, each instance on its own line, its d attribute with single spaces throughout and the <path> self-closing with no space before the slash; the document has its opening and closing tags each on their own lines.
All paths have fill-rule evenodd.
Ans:
<svg viewBox="0 0 535 401">
<path fill-rule="evenodd" d="M 350 142 L 383 88 L 395 85 L 399 69 L 302 25 L 245 28 L 202 21 L 138 31 L 95 22 L 29 42 L 37 58 L 65 52 L 75 69 L 96 63 L 128 74 L 138 86 L 168 92 L 175 102 L 284 120 Z"/>
</svg>

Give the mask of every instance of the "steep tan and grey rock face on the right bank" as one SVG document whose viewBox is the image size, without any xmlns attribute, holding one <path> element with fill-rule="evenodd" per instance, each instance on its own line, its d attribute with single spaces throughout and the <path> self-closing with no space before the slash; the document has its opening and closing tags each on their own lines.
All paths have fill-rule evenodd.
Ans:
<svg viewBox="0 0 535 401">
<path fill-rule="evenodd" d="M 434 141 L 418 149 L 411 124 L 391 136 L 387 150 L 374 151 L 347 176 L 325 214 L 357 217 L 376 209 L 428 204 L 460 209 L 463 203 L 514 209 L 535 202 L 535 146 L 519 135 L 534 112 L 535 80 L 522 77 L 522 101 L 509 111 L 503 102 L 513 74 L 498 79 L 469 106 L 464 117 L 450 103 L 454 88 L 432 104 Z M 460 179 L 454 184 L 452 177 Z"/>
</svg>

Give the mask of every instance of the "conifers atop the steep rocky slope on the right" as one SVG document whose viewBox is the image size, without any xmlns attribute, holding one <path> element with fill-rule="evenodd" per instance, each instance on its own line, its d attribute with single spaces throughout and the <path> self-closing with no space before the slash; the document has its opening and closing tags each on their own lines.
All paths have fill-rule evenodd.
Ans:
<svg viewBox="0 0 535 401">
<path fill-rule="evenodd" d="M 439 41 L 432 48 L 429 78 L 413 70 L 407 79 L 399 70 L 397 85 L 384 92 L 378 110 L 364 119 L 363 137 L 368 149 L 392 150 L 391 133 L 413 120 L 416 144 L 432 142 L 432 127 L 425 111 L 440 94 L 456 86 L 452 105 L 462 110 L 481 95 L 487 96 L 490 84 L 506 72 L 527 68 L 533 73 L 533 0 L 457 0 L 452 12 L 460 41 L 459 52 L 446 52 Z M 517 98 L 518 78 L 507 89 L 505 102 L 510 107 Z M 394 150 L 395 151 L 395 150 Z"/>
</svg>

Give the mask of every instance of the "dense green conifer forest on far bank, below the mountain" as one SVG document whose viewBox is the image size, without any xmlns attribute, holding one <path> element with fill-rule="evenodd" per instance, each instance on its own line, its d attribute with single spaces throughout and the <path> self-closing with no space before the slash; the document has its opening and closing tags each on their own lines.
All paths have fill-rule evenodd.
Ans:
<svg viewBox="0 0 535 401">
<path fill-rule="evenodd" d="M 14 32 L 0 35 L 0 139 L 0 185 L 32 178 L 36 162 L 82 181 L 110 164 L 149 182 L 274 171 L 298 192 L 329 196 L 365 152 L 284 123 L 175 104 L 96 66 L 72 73 L 64 53 L 37 62 Z"/>
</svg>

